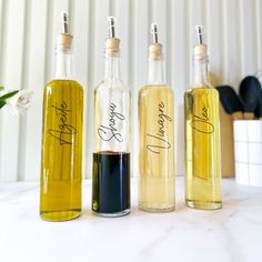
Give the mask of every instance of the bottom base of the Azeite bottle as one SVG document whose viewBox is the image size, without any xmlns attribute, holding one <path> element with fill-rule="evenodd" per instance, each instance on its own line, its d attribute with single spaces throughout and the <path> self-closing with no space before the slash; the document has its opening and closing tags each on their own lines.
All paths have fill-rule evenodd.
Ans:
<svg viewBox="0 0 262 262">
<path fill-rule="evenodd" d="M 40 211 L 42 220 L 50 222 L 62 222 L 79 218 L 81 210 L 63 210 L 63 211 Z"/>
</svg>

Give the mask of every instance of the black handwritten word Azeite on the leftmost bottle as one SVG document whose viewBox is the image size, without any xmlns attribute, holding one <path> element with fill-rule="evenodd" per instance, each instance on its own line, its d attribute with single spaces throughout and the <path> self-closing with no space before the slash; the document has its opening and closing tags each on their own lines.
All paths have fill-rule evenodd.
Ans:
<svg viewBox="0 0 262 262">
<path fill-rule="evenodd" d="M 51 108 L 56 111 L 56 115 L 59 119 L 59 125 L 57 129 L 49 129 L 48 132 L 54 139 L 59 140 L 60 145 L 72 144 L 72 137 L 77 133 L 77 129 L 67 123 L 68 114 L 71 110 L 68 109 L 67 103 L 63 101 L 60 105 L 53 104 Z"/>
</svg>

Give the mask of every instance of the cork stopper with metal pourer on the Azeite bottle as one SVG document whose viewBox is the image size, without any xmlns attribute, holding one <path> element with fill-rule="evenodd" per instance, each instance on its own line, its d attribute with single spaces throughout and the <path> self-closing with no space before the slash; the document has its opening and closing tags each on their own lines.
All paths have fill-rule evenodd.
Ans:
<svg viewBox="0 0 262 262">
<path fill-rule="evenodd" d="M 67 12 L 61 13 L 62 32 L 58 34 L 58 48 L 62 51 L 68 51 L 72 48 L 73 37 L 69 33 L 69 18 Z"/>
</svg>

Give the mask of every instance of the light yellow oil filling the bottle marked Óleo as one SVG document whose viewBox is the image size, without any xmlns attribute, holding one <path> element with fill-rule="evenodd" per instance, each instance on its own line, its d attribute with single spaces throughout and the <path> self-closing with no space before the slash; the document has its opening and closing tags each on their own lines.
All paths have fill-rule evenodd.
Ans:
<svg viewBox="0 0 262 262">
<path fill-rule="evenodd" d="M 221 151 L 219 93 L 199 85 L 184 94 L 185 202 L 195 209 L 219 209 Z"/>
</svg>

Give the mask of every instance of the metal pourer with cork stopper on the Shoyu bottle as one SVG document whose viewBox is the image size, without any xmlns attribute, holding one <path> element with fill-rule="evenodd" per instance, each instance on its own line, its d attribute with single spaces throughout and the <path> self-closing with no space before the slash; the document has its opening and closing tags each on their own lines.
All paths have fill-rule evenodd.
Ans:
<svg viewBox="0 0 262 262">
<path fill-rule="evenodd" d="M 115 18 L 109 17 L 109 38 L 105 40 L 105 53 L 119 52 L 120 40 L 115 38 Z"/>
</svg>

